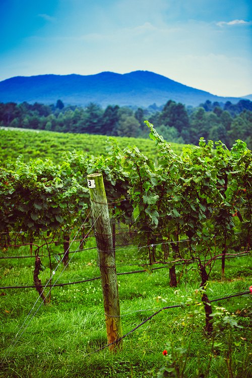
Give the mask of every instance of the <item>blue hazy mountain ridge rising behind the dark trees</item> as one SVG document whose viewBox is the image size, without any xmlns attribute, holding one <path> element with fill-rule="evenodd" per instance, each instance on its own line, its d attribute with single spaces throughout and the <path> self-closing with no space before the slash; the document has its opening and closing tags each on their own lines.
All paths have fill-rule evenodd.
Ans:
<svg viewBox="0 0 252 378">
<path fill-rule="evenodd" d="M 96 102 L 103 107 L 108 104 L 147 107 L 153 103 L 162 105 L 169 99 L 197 106 L 206 100 L 237 102 L 240 98 L 215 96 L 149 71 L 17 76 L 0 82 L 0 102 L 51 104 L 57 99 L 72 105 Z"/>
</svg>

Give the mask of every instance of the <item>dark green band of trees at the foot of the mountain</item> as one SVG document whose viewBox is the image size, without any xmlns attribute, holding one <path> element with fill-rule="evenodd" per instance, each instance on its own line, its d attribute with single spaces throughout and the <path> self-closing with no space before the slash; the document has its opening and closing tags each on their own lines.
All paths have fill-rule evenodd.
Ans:
<svg viewBox="0 0 252 378">
<path fill-rule="evenodd" d="M 240 100 L 225 104 L 207 100 L 198 107 L 185 107 L 169 100 L 164 106 L 127 107 L 96 103 L 86 107 L 35 102 L 0 103 L 0 126 L 57 132 L 100 134 L 108 136 L 148 137 L 144 121 L 153 123 L 169 142 L 198 144 L 200 137 L 221 140 L 231 147 L 236 139 L 252 148 L 252 102 Z"/>
</svg>

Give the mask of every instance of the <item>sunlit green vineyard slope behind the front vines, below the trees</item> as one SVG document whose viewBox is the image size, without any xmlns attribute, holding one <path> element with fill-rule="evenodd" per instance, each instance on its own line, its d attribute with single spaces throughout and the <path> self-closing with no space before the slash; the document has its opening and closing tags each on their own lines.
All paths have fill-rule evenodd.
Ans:
<svg viewBox="0 0 252 378">
<path fill-rule="evenodd" d="M 33 158 L 50 158 L 62 163 L 62 152 L 80 150 L 95 156 L 106 155 L 105 135 L 56 133 L 52 131 L 28 131 L 27 129 L 6 130 L 0 128 L 0 161 L 2 166 L 14 162 L 19 155 L 24 161 Z M 155 143 L 149 139 L 115 137 L 121 148 L 136 145 L 149 158 L 155 158 Z M 175 153 L 182 152 L 183 144 L 171 143 Z"/>
</svg>

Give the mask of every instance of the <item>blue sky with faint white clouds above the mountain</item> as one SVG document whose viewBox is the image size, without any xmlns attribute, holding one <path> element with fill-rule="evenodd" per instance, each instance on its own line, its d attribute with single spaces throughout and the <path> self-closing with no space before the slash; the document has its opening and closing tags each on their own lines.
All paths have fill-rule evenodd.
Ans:
<svg viewBox="0 0 252 378">
<path fill-rule="evenodd" d="M 152 71 L 252 93 L 250 0 L 0 0 L 0 81 Z"/>
</svg>

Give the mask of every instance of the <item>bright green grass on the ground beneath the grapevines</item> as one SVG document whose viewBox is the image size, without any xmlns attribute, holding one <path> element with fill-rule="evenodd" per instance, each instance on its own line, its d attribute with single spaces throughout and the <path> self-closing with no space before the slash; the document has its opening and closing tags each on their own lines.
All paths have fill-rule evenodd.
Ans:
<svg viewBox="0 0 252 378">
<path fill-rule="evenodd" d="M 86 247 L 92 246 L 92 238 Z M 75 246 L 73 246 L 74 249 Z M 60 251 L 60 245 L 54 247 Z M 17 250 L 1 252 L 16 255 Z M 20 254 L 29 254 L 26 250 Z M 120 254 L 118 272 L 127 271 L 128 260 Z M 43 264 L 48 260 L 43 257 Z M 249 266 L 251 257 L 232 258 L 226 262 L 226 280 L 221 281 L 221 262 L 216 262 L 208 292 L 210 299 L 228 294 L 247 291 L 251 285 Z M 140 269 L 139 266 L 132 267 Z M 178 275 L 181 266 L 177 267 Z M 60 266 L 54 280 L 58 277 Z M 41 272 L 42 283 L 49 277 L 46 267 Z M 31 285 L 33 259 L 2 259 L 0 276 L 1 286 Z M 87 277 L 99 276 L 96 264 L 96 250 L 78 252 L 69 266 L 59 277 L 58 282 L 72 282 Z M 195 298 L 195 289 L 199 287 L 197 271 L 191 267 L 184 269 L 177 288 L 168 285 L 168 269 L 159 269 L 152 274 L 147 272 L 118 276 L 120 310 L 123 334 L 128 333 L 148 316 L 164 306 L 186 303 L 188 298 Z M 144 378 L 156 377 L 158 370 L 167 358 L 162 351 L 185 345 L 188 359 L 184 371 L 185 377 L 197 377 L 207 370 L 211 340 L 204 333 L 204 314 L 193 314 L 193 306 L 163 310 L 147 321 L 134 333 L 125 337 L 120 352 L 112 354 L 106 349 L 96 352 L 106 345 L 106 331 L 100 281 L 55 287 L 50 304 L 42 305 L 16 342 L 15 335 L 25 321 L 29 311 L 37 300 L 34 289 L 1 289 L 1 368 L 0 377 L 22 378 Z M 230 316 L 243 328 L 231 328 L 232 370 L 235 377 L 248 377 L 252 370 L 249 365 L 250 296 L 244 295 L 213 303 L 213 306 L 225 307 Z M 40 302 L 38 302 L 39 304 Z M 37 307 L 31 311 L 31 315 Z M 194 316 L 194 322 L 192 322 Z M 30 319 L 29 318 L 29 319 Z M 228 331 L 228 332 L 229 332 Z M 228 339 L 225 335 L 216 341 L 209 377 L 228 377 L 226 349 Z M 218 346 L 219 345 L 219 346 Z M 11 348 L 10 348 L 11 346 Z M 250 355 L 249 355 L 250 353 Z M 168 376 L 168 375 L 167 375 Z"/>
</svg>

